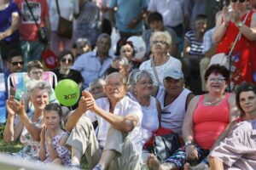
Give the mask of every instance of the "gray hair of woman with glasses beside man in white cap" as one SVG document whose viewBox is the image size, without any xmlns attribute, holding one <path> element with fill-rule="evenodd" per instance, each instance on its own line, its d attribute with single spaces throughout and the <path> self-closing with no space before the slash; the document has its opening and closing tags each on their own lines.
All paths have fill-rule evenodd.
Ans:
<svg viewBox="0 0 256 170">
<path fill-rule="evenodd" d="M 142 78 L 142 77 L 148 77 L 151 80 L 153 80 L 153 76 L 150 72 L 142 70 L 134 70 L 131 71 L 130 76 L 129 76 L 129 85 L 134 86 L 137 84 L 137 82 Z"/>
</svg>

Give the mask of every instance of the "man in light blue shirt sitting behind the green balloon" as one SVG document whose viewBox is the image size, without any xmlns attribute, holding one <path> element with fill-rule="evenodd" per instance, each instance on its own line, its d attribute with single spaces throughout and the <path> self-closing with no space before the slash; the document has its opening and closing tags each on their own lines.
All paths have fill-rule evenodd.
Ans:
<svg viewBox="0 0 256 170">
<path fill-rule="evenodd" d="M 84 78 L 83 88 L 88 88 L 89 83 L 105 75 L 111 65 L 113 57 L 108 54 L 111 39 L 103 33 L 97 38 L 97 50 L 80 55 L 73 63 L 72 69 L 80 71 Z"/>
</svg>

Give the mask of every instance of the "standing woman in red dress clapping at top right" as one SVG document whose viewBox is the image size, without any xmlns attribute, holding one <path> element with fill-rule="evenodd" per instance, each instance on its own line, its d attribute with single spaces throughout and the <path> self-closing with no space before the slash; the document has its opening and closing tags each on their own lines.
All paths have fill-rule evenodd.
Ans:
<svg viewBox="0 0 256 170">
<path fill-rule="evenodd" d="M 239 32 L 241 36 L 232 51 L 231 84 L 256 82 L 256 14 L 247 10 L 247 0 L 230 0 L 218 17 L 212 36 L 218 43 L 217 53 L 229 54 Z"/>
</svg>

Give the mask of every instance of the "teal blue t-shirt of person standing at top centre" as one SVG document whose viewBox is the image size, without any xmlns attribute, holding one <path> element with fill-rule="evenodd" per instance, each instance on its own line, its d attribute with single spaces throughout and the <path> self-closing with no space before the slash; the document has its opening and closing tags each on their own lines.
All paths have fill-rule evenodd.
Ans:
<svg viewBox="0 0 256 170">
<path fill-rule="evenodd" d="M 143 13 L 143 9 L 148 8 L 147 0 L 111 0 L 109 8 L 117 7 L 115 13 L 116 26 L 119 31 L 124 32 L 139 32 L 143 31 L 143 21 L 141 21 L 136 27 L 128 28 L 128 24 Z"/>
</svg>

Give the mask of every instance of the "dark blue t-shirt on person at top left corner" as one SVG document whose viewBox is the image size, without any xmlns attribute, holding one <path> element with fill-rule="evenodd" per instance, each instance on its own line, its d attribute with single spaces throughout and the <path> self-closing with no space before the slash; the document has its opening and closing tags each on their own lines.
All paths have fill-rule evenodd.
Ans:
<svg viewBox="0 0 256 170">
<path fill-rule="evenodd" d="M 0 10 L 0 32 L 6 31 L 9 28 L 9 26 L 12 25 L 12 14 L 15 12 L 20 14 L 20 10 L 16 5 L 16 3 L 9 3 L 9 6 L 7 8 Z M 5 37 L 4 41 L 14 42 L 14 41 L 17 41 L 19 38 L 20 38 L 19 31 L 16 30 L 9 37 Z"/>
</svg>

